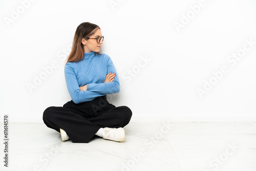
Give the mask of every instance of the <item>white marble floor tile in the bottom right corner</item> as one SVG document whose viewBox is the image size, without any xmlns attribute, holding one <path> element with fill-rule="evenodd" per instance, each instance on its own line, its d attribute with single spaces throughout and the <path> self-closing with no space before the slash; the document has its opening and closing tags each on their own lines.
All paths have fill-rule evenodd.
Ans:
<svg viewBox="0 0 256 171">
<path fill-rule="evenodd" d="M 256 167 L 256 149 L 251 148 L 178 148 L 174 153 L 182 170 Z"/>
</svg>

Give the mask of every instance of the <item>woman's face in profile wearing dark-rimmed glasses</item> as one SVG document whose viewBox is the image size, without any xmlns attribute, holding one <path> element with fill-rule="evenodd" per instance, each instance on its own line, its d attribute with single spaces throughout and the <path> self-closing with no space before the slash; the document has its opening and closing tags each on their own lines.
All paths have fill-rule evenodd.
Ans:
<svg viewBox="0 0 256 171">
<path fill-rule="evenodd" d="M 96 32 L 89 36 L 91 38 L 98 38 L 102 36 L 101 35 L 101 30 L 100 29 L 97 29 Z M 100 39 L 100 42 L 97 43 L 97 40 L 96 39 L 91 39 L 89 38 L 88 40 L 82 38 L 82 44 L 83 44 L 83 49 L 84 49 L 84 52 L 85 53 L 88 53 L 88 52 L 99 52 L 100 51 L 100 46 L 102 44 L 102 40 Z"/>
</svg>

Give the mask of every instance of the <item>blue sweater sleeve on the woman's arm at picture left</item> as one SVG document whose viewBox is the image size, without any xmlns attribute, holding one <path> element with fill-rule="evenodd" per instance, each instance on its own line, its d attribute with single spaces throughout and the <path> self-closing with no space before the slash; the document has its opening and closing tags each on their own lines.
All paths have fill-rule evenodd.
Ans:
<svg viewBox="0 0 256 171">
<path fill-rule="evenodd" d="M 71 63 L 65 65 L 65 79 L 69 94 L 74 101 L 74 103 L 81 103 L 86 101 L 91 101 L 96 97 L 103 96 L 104 94 L 91 92 L 91 91 L 81 91 L 77 82 L 76 74 Z"/>
</svg>

